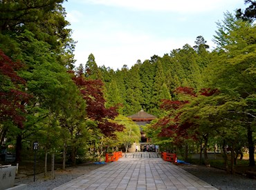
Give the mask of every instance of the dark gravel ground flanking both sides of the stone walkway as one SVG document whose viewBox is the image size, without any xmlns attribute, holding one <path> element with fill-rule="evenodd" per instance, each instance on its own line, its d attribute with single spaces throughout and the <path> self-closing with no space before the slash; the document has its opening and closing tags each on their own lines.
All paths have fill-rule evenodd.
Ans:
<svg viewBox="0 0 256 190">
<path fill-rule="evenodd" d="M 78 167 L 69 167 L 68 169 L 66 169 L 66 171 L 55 171 L 54 180 L 46 179 L 44 178 L 44 174 L 40 173 L 35 176 L 35 182 L 33 182 L 34 176 L 28 176 L 23 178 L 17 178 L 15 180 L 15 183 L 28 184 L 28 190 L 53 189 L 60 186 L 61 184 L 64 184 L 70 180 L 89 173 L 93 169 L 97 169 L 101 166 L 102 165 L 94 165 L 92 163 L 89 165 L 80 165 Z M 197 165 L 178 165 L 178 167 L 181 167 L 185 171 L 192 173 L 194 176 L 200 178 L 201 180 L 212 184 L 212 186 L 216 187 L 217 189 L 256 189 L 256 180 L 241 175 L 232 176 L 221 169 Z M 51 173 L 49 173 L 49 176 L 50 175 Z"/>
</svg>

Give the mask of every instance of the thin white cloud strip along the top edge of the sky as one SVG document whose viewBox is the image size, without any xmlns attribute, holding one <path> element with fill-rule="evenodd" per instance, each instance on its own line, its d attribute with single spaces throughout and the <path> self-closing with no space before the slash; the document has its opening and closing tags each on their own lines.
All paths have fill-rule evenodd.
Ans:
<svg viewBox="0 0 256 190">
<path fill-rule="evenodd" d="M 133 10 L 198 13 L 241 3 L 241 0 L 82 0 L 84 3 L 129 8 Z"/>
</svg>

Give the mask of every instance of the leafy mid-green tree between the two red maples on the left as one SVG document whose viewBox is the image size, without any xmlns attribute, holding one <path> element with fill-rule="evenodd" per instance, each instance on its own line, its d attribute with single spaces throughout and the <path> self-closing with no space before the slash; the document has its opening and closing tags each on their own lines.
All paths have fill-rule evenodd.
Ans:
<svg viewBox="0 0 256 190">
<path fill-rule="evenodd" d="M 26 92 L 33 95 L 30 104 L 26 105 L 28 113 L 25 128 L 11 131 L 13 137 L 17 137 L 16 154 L 17 161 L 20 161 L 22 140 L 29 134 L 37 131 L 37 125 L 43 118 L 53 118 L 53 114 L 60 111 L 60 107 L 66 105 L 65 98 L 68 94 L 65 84 L 71 81 L 66 68 L 60 64 L 58 55 L 51 50 L 51 45 L 44 41 L 35 39 L 35 34 L 28 30 L 15 35 L 15 41 L 19 45 L 19 54 L 14 54 L 16 59 L 26 63 L 20 76 L 27 81 Z M 21 102 L 21 105 L 24 104 Z M 54 118 L 53 118 L 54 119 Z"/>
</svg>

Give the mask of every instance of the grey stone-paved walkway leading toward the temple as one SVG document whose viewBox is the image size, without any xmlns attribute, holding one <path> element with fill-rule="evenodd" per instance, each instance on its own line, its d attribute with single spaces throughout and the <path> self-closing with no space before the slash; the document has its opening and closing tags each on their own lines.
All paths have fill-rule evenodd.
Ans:
<svg viewBox="0 0 256 190">
<path fill-rule="evenodd" d="M 149 156 L 150 155 L 150 156 Z M 149 158 L 150 157 L 150 158 Z M 216 189 L 155 153 L 127 154 L 54 190 Z"/>
</svg>

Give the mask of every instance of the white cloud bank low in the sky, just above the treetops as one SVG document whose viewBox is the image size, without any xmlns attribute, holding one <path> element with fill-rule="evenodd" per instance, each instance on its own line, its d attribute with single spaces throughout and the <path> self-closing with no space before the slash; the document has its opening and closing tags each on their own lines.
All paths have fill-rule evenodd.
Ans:
<svg viewBox="0 0 256 190">
<path fill-rule="evenodd" d="M 98 36 L 98 34 L 95 34 Z M 113 70 L 121 69 L 123 65 L 134 65 L 138 59 L 145 61 L 150 59 L 154 54 L 163 56 L 165 53 L 170 53 L 171 50 L 183 47 L 185 43 L 193 43 L 190 39 L 159 39 L 155 36 L 145 34 L 129 34 L 126 32 L 118 32 L 111 34 L 108 39 L 102 39 L 104 36 L 99 37 L 102 43 L 91 47 L 77 46 L 75 52 L 75 59 L 78 62 L 77 66 L 85 64 L 89 54 L 95 56 L 95 61 L 98 66 L 105 65 L 111 67 Z M 114 41 L 114 42 L 113 42 Z M 118 45 L 113 44 L 118 43 Z M 86 44 L 86 42 L 84 42 Z M 106 48 L 106 46 L 108 46 Z"/>
</svg>

